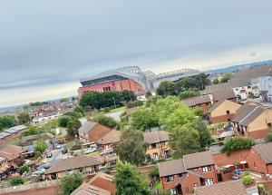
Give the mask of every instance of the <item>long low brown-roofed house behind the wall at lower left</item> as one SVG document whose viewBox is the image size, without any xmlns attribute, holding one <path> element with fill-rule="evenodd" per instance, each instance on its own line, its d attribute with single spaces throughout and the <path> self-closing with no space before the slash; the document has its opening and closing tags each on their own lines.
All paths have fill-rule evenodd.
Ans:
<svg viewBox="0 0 272 195">
<path fill-rule="evenodd" d="M 49 170 L 45 172 L 47 180 L 61 179 L 71 171 L 81 171 L 83 174 L 91 174 L 99 171 L 104 161 L 98 158 L 77 156 L 70 159 L 63 159 L 55 163 Z"/>
</svg>

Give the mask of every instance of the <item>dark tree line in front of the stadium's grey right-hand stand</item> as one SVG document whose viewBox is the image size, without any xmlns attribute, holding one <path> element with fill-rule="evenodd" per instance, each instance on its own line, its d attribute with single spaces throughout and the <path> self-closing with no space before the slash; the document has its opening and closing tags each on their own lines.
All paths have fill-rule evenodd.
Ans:
<svg viewBox="0 0 272 195">
<path fill-rule="evenodd" d="M 195 77 L 186 77 L 178 82 L 164 81 L 161 82 L 157 88 L 157 94 L 161 96 L 179 95 L 184 96 L 184 92 L 194 91 L 198 92 L 205 89 L 205 86 L 210 85 L 208 75 L 199 73 Z M 186 97 L 198 95 L 198 93 L 186 93 Z"/>
</svg>

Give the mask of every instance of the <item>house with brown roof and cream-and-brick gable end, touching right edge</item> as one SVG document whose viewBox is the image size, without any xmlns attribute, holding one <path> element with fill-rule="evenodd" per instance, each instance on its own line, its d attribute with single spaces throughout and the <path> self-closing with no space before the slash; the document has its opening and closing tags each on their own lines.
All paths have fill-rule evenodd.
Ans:
<svg viewBox="0 0 272 195">
<path fill-rule="evenodd" d="M 232 122 L 235 134 L 264 139 L 271 128 L 272 110 L 260 104 L 244 104 L 235 113 Z"/>
</svg>

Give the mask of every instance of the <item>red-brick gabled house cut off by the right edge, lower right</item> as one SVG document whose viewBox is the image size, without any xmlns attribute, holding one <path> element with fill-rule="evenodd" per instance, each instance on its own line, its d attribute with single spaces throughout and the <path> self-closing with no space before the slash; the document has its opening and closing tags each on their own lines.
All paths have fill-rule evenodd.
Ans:
<svg viewBox="0 0 272 195">
<path fill-rule="evenodd" d="M 262 173 L 272 179 L 272 142 L 253 146 L 246 158 L 251 171 Z"/>
</svg>

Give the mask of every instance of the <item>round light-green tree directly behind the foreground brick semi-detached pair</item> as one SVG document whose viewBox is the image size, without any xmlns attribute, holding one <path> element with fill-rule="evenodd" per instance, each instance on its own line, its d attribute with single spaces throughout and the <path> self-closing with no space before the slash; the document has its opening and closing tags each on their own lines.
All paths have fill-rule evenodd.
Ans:
<svg viewBox="0 0 272 195">
<path fill-rule="evenodd" d="M 174 158 L 199 150 L 199 132 L 189 125 L 176 126 L 170 134 L 170 147 Z"/>
</svg>

